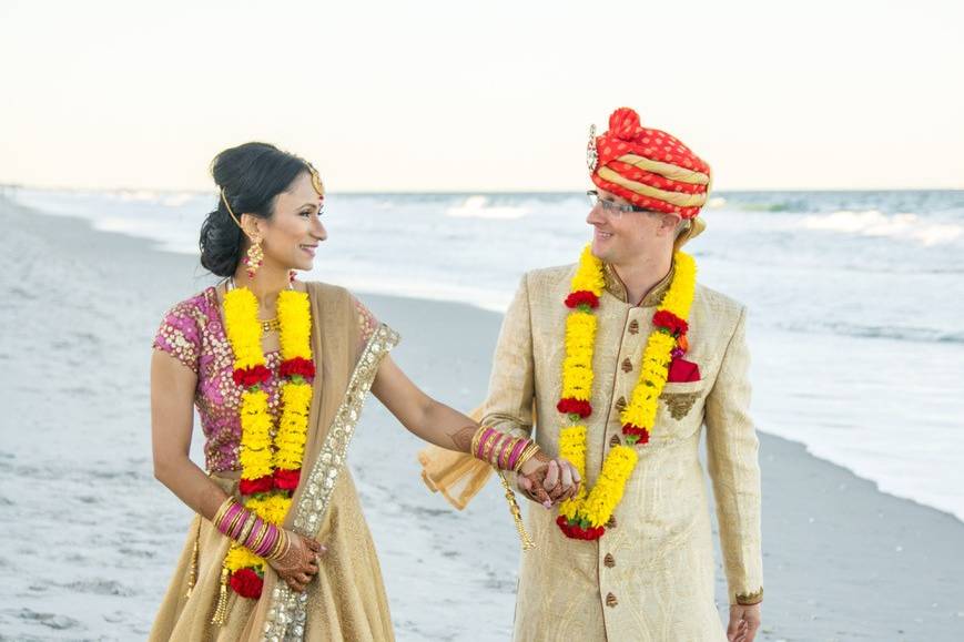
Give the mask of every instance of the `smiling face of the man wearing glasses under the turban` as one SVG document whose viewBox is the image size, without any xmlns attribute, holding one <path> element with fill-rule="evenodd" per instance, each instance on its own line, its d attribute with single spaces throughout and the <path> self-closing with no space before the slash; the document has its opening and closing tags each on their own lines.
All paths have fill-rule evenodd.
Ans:
<svg viewBox="0 0 964 642">
<path fill-rule="evenodd" d="M 660 212 L 619 212 L 619 206 L 631 203 L 606 190 L 598 192 L 599 202 L 586 217 L 593 227 L 593 255 L 620 265 L 639 256 L 671 251 L 677 217 Z"/>
</svg>

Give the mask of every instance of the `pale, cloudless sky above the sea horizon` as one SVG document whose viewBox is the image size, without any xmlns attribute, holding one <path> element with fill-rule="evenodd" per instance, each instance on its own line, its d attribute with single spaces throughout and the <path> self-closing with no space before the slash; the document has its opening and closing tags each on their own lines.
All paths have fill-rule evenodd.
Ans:
<svg viewBox="0 0 964 642">
<path fill-rule="evenodd" d="M 207 190 L 261 140 L 332 191 L 575 191 L 628 105 L 719 190 L 964 188 L 962 7 L 0 0 L 0 183 Z"/>
</svg>

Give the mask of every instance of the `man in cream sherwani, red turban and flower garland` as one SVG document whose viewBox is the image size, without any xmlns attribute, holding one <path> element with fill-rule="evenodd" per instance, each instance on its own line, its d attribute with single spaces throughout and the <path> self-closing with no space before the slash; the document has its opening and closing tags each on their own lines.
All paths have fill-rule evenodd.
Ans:
<svg viewBox="0 0 964 642">
<path fill-rule="evenodd" d="M 679 252 L 704 227 L 710 169 L 626 108 L 601 136 L 593 128 L 589 165 L 591 245 L 577 264 L 524 276 L 484 408 L 484 425 L 532 435 L 584 480 L 551 510 L 531 506 L 536 549 L 522 557 L 515 639 L 751 642 L 763 589 L 747 312 L 696 283 L 694 261 Z M 550 476 L 559 497 L 569 476 Z"/>
</svg>

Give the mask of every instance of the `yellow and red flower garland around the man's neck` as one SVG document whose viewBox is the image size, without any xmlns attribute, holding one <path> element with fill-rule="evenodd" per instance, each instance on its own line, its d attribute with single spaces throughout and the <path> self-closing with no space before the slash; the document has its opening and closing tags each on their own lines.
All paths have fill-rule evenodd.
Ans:
<svg viewBox="0 0 964 642">
<path fill-rule="evenodd" d="M 649 441 L 649 429 L 656 419 L 657 404 L 666 385 L 669 364 L 674 355 L 688 349 L 687 319 L 696 292 L 697 265 L 692 256 L 674 255 L 676 274 L 669 291 L 653 314 L 656 329 L 647 339 L 642 353 L 639 381 L 629 404 L 620 414 L 626 445 L 612 447 L 591 491 L 586 485 L 572 499 L 559 507 L 556 523 L 572 539 L 596 540 L 606 532 L 606 522 L 622 499 L 639 455 L 636 446 Z M 596 344 L 596 315 L 605 279 L 602 262 L 586 246 L 579 267 L 572 277 L 566 306 L 566 359 L 562 363 L 562 393 L 556 408 L 569 420 L 559 434 L 559 455 L 565 457 L 582 479 L 586 479 L 586 426 L 592 414 L 592 351 Z"/>
</svg>

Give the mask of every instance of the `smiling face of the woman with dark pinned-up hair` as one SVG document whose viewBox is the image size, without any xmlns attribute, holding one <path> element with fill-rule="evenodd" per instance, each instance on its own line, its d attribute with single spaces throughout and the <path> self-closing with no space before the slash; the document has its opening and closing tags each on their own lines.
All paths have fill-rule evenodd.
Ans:
<svg viewBox="0 0 964 642">
<path fill-rule="evenodd" d="M 321 221 L 324 202 L 308 172 L 301 173 L 277 195 L 272 217 L 258 222 L 265 263 L 283 269 L 312 268 L 318 243 L 328 237 Z"/>
</svg>

